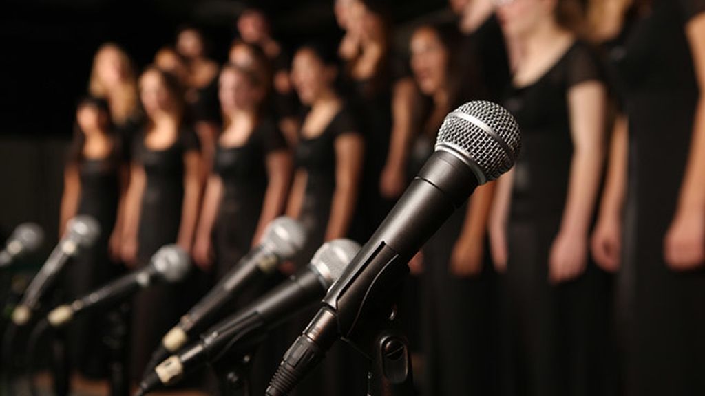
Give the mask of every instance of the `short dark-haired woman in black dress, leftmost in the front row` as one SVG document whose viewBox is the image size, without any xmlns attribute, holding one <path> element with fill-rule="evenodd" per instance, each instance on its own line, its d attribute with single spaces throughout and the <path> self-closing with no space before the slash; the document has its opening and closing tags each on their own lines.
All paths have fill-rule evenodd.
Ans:
<svg viewBox="0 0 705 396">
<path fill-rule="evenodd" d="M 76 111 L 75 135 L 71 147 L 61 199 L 61 233 L 77 215 L 95 218 L 101 235 L 90 249 L 80 254 L 67 268 L 69 299 L 86 295 L 120 273 L 109 240 L 121 233 L 118 204 L 126 177 L 121 144 L 111 129 L 108 104 L 87 97 Z M 111 254 L 109 254 L 109 252 Z M 115 254 L 117 253 L 117 254 Z M 72 366 L 91 379 L 105 378 L 108 371 L 104 315 L 83 316 L 73 322 L 71 333 Z"/>
</svg>

